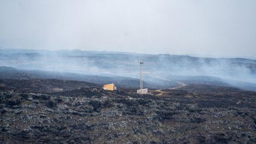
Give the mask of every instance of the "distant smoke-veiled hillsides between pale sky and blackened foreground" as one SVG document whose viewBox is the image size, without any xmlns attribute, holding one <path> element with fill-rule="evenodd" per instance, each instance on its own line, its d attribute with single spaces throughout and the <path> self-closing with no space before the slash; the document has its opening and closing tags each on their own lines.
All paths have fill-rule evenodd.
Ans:
<svg viewBox="0 0 256 144">
<path fill-rule="evenodd" d="M 114 82 L 119 87 L 130 88 L 139 87 L 140 60 L 145 62 L 145 86 L 150 88 L 175 87 L 175 81 L 181 81 L 188 84 L 232 85 L 256 91 L 255 59 L 83 50 L 1 49 L 0 52 L 0 66 L 19 71 L 23 69 L 37 78 L 97 84 Z"/>
</svg>

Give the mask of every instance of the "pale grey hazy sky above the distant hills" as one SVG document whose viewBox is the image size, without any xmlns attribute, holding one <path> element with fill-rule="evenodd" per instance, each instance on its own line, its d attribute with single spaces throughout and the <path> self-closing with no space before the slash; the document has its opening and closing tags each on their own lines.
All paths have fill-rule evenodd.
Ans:
<svg viewBox="0 0 256 144">
<path fill-rule="evenodd" d="M 256 56 L 256 1 L 0 0 L 0 48 Z"/>
</svg>

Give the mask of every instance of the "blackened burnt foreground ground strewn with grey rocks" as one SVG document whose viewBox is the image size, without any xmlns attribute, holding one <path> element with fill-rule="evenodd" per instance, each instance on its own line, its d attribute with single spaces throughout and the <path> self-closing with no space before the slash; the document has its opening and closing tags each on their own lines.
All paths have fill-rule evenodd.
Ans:
<svg viewBox="0 0 256 144">
<path fill-rule="evenodd" d="M 156 96 L 61 82 L 2 80 L 0 143 L 256 143 L 256 92 L 187 85 Z"/>
</svg>

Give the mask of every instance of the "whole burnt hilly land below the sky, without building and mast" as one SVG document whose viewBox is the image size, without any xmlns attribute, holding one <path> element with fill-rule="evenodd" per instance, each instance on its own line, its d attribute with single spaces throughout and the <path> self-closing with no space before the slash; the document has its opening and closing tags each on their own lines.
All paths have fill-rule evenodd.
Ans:
<svg viewBox="0 0 256 144">
<path fill-rule="evenodd" d="M 0 143 L 256 143 L 255 60 L 0 55 Z M 140 58 L 146 95 L 136 94 Z M 112 82 L 117 91 L 102 89 Z"/>
</svg>

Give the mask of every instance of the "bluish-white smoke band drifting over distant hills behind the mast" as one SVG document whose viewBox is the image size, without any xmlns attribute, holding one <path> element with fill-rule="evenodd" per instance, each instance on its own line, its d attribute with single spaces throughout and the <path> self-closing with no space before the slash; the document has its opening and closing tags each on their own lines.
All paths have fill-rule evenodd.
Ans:
<svg viewBox="0 0 256 144">
<path fill-rule="evenodd" d="M 59 71 L 99 76 L 139 78 L 139 61 L 143 60 L 145 81 L 187 81 L 191 76 L 212 76 L 205 81 L 256 81 L 256 60 L 209 58 L 179 55 L 93 52 L 81 50 L 1 50 L 1 66 L 18 69 Z M 209 79 L 210 78 L 210 79 Z M 193 77 L 191 81 L 201 81 Z"/>
</svg>

